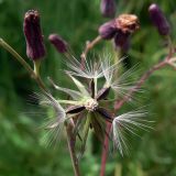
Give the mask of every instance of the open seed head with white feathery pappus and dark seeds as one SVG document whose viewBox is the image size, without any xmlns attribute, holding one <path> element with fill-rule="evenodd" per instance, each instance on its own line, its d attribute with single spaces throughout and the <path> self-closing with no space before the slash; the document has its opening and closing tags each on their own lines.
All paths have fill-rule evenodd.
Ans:
<svg viewBox="0 0 176 176">
<path fill-rule="evenodd" d="M 80 69 L 81 64 L 74 57 L 68 63 L 66 74 L 77 89 L 59 87 L 50 79 L 58 91 L 63 91 L 70 97 L 68 100 L 48 95 L 46 100 L 43 101 L 56 111 L 55 119 L 47 122 L 45 128 L 54 135 L 52 141 L 61 135 L 65 122 L 69 123 L 69 120 L 73 119 L 75 123 L 74 134 L 81 139 L 81 154 L 86 147 L 89 130 L 94 130 L 100 141 L 103 140 L 105 135 L 108 135 L 113 142 L 114 148 L 118 148 L 123 155 L 128 153 L 125 134 L 136 135 L 138 129 L 150 129 L 145 124 L 148 121 L 143 119 L 146 113 L 142 111 L 133 111 L 121 116 L 112 113 L 113 110 L 110 105 L 114 103 L 116 99 L 112 100 L 110 94 L 124 96 L 133 88 L 132 82 L 127 80 L 132 75 L 133 68 L 120 75 L 121 61 L 112 63 L 111 57 L 107 56 L 99 59 L 99 63 L 87 62 L 85 68 Z M 82 79 L 79 80 L 80 78 Z M 111 123 L 111 135 L 106 131 L 106 122 Z"/>
</svg>

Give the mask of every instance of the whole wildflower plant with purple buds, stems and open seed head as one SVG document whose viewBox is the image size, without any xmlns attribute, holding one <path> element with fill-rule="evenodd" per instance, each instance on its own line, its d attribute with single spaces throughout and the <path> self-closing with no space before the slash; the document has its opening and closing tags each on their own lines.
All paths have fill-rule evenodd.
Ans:
<svg viewBox="0 0 176 176">
<path fill-rule="evenodd" d="M 113 16 L 113 1 L 111 1 L 111 7 L 106 6 L 108 6 L 108 1 L 102 1 L 101 11 L 105 15 L 107 13 L 107 16 Z M 111 9 L 113 10 L 112 12 Z M 99 61 L 87 58 L 88 52 L 102 41 L 113 40 L 116 47 L 123 50 L 131 40 L 131 35 L 140 29 L 136 15 L 120 14 L 118 18 L 100 25 L 98 30 L 99 35 L 94 41 L 87 43 L 80 55 L 80 61 L 70 54 L 69 45 L 62 36 L 58 34 L 48 36 L 48 41 L 55 46 L 57 52 L 67 57 L 65 74 L 70 79 L 70 85 L 76 87 L 76 89 L 72 89 L 70 85 L 69 88 L 61 87 L 59 84 L 57 85 L 52 78 L 48 78 L 51 85 L 56 90 L 67 95 L 66 99 L 54 97 L 41 78 L 40 67 L 46 50 L 41 30 L 40 14 L 36 10 L 30 10 L 25 13 L 23 24 L 26 55 L 33 62 L 34 68 L 8 43 L 0 38 L 0 45 L 24 66 L 41 88 L 43 96 L 40 105 L 54 109 L 55 117 L 44 124 L 46 134 L 48 134 L 45 139 L 46 143 L 50 145 L 56 142 L 59 140 L 63 131 L 66 131 L 73 167 L 77 176 L 80 175 L 77 153 L 79 153 L 80 157 L 86 151 L 86 142 L 90 130 L 95 132 L 98 140 L 102 143 L 105 147 L 102 158 L 106 158 L 108 151 L 107 141 L 111 141 L 113 148 L 117 148 L 123 156 L 129 153 L 127 136 L 130 134 L 138 135 L 138 130 L 148 131 L 151 129 L 152 121 L 146 119 L 146 111 L 133 110 L 123 114 L 119 114 L 118 111 L 124 102 L 132 98 L 134 92 L 139 91 L 143 82 L 155 70 L 166 65 L 172 66 L 174 69 L 176 68 L 176 59 L 173 57 L 175 50 L 169 38 L 169 25 L 166 18 L 156 4 L 152 4 L 148 12 L 160 34 L 167 35 L 169 52 L 165 59 L 154 65 L 136 81 L 129 81 L 133 67 L 120 74 L 119 70 L 123 58 L 114 61 L 110 55 L 100 56 Z M 81 143 L 79 151 L 76 151 L 77 141 Z M 105 175 L 105 166 L 106 162 L 102 162 L 101 176 Z"/>
</svg>

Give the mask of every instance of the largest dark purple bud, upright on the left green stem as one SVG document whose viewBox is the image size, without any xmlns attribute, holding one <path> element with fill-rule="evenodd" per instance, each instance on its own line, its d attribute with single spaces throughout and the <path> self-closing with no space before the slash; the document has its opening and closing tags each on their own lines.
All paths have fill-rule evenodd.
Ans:
<svg viewBox="0 0 176 176">
<path fill-rule="evenodd" d="M 36 61 L 45 56 L 45 45 L 36 10 L 29 10 L 24 15 L 23 31 L 26 41 L 26 55 Z"/>
</svg>

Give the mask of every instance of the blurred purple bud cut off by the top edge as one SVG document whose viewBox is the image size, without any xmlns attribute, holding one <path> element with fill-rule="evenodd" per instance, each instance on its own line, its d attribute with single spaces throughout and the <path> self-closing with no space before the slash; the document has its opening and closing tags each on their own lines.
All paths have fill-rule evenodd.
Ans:
<svg viewBox="0 0 176 176">
<path fill-rule="evenodd" d="M 116 9 L 114 0 L 101 0 L 100 10 L 105 18 L 114 18 Z"/>
</svg>

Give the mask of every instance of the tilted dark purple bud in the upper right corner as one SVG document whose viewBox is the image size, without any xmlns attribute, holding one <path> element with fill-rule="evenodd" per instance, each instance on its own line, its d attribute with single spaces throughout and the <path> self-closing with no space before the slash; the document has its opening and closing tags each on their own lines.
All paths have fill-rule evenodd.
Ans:
<svg viewBox="0 0 176 176">
<path fill-rule="evenodd" d="M 169 24 L 168 24 L 168 22 L 165 18 L 164 13 L 160 9 L 160 7 L 155 3 L 153 3 L 153 4 L 150 6 L 148 12 L 150 12 L 151 20 L 152 20 L 153 24 L 158 30 L 158 33 L 161 35 L 168 35 Z"/>
</svg>

